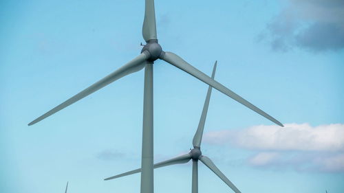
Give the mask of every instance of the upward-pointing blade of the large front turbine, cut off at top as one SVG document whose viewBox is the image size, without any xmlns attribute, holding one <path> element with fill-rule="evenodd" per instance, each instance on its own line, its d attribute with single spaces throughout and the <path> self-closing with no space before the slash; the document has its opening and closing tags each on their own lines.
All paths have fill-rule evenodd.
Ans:
<svg viewBox="0 0 344 193">
<path fill-rule="evenodd" d="M 151 39 L 157 39 L 154 0 L 145 1 L 142 36 L 146 42 Z"/>
</svg>

